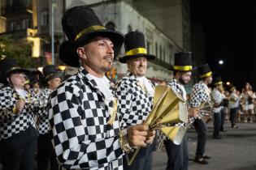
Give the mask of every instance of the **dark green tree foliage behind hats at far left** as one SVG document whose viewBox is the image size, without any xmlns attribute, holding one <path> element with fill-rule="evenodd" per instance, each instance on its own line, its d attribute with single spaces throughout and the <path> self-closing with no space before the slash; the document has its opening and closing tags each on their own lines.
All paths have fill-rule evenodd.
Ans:
<svg viewBox="0 0 256 170">
<path fill-rule="evenodd" d="M 35 60 L 31 57 L 31 46 L 6 36 L 0 36 L 0 57 L 14 58 L 20 67 L 31 68 L 36 66 Z"/>
</svg>

